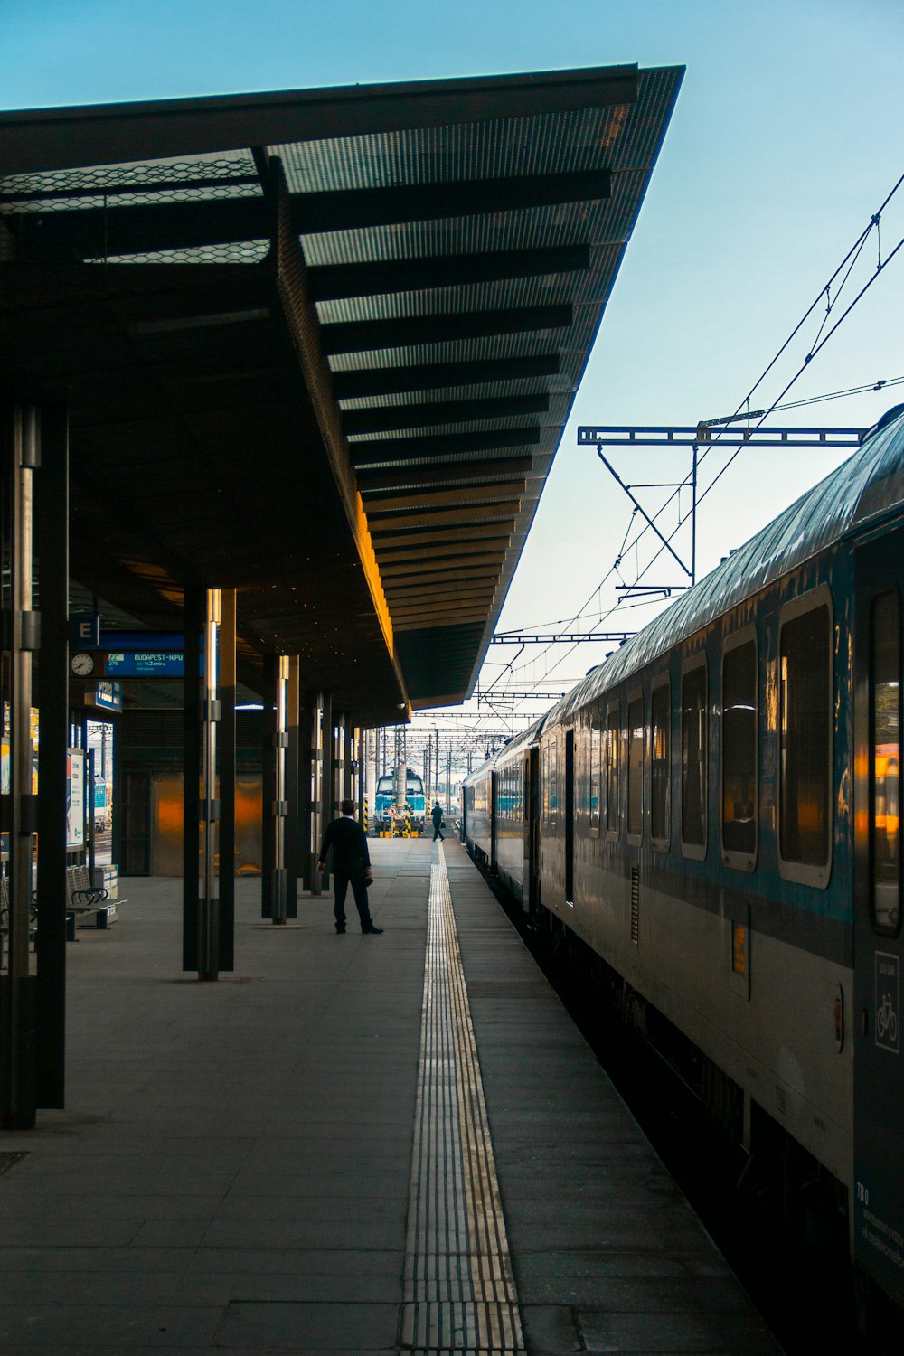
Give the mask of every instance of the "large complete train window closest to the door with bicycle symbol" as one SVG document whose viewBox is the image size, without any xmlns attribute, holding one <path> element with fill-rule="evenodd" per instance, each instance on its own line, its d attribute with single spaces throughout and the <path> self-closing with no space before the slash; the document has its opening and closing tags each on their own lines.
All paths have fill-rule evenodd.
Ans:
<svg viewBox="0 0 904 1356">
<path fill-rule="evenodd" d="M 778 833 L 782 873 L 827 885 L 832 842 L 832 617 L 796 599 L 779 618 Z"/>
</svg>

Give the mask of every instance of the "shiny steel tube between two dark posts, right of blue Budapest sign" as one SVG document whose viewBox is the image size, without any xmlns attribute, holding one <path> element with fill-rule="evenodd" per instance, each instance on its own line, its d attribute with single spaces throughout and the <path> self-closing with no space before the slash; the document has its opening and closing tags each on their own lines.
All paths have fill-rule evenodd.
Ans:
<svg viewBox="0 0 904 1356">
<path fill-rule="evenodd" d="M 198 979 L 220 978 L 220 896 L 217 895 L 217 629 L 222 617 L 218 589 L 205 590 L 205 675 L 201 708 L 201 880 Z"/>
</svg>

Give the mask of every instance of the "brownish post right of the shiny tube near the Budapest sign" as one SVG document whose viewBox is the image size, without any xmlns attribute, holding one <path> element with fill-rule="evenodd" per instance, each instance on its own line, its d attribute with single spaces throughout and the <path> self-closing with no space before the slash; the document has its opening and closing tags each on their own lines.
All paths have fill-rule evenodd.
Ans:
<svg viewBox="0 0 904 1356">
<path fill-rule="evenodd" d="M 220 622 L 220 968 L 236 967 L 236 590 Z"/>
</svg>

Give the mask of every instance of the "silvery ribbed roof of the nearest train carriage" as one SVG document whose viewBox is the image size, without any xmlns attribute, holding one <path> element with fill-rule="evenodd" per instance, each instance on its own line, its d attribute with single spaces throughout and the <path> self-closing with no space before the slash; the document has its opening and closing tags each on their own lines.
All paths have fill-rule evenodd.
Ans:
<svg viewBox="0 0 904 1356">
<path fill-rule="evenodd" d="M 619 681 L 701 631 L 773 580 L 854 532 L 904 509 L 904 405 L 862 446 L 561 698 L 541 730 L 567 720 Z M 533 727 L 531 727 L 533 728 Z M 535 731 L 535 734 L 538 734 Z"/>
</svg>

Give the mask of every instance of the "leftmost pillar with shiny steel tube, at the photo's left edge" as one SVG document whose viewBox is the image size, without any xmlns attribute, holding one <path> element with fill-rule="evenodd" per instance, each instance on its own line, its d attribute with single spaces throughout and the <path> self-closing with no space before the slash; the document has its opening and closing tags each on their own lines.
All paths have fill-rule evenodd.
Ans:
<svg viewBox="0 0 904 1356">
<path fill-rule="evenodd" d="M 11 434 L 4 458 L 9 506 L 9 799 L 3 816 L 9 834 L 9 964 L 0 989 L 0 1117 L 7 1130 L 30 1130 L 37 1109 L 35 979 L 28 952 L 38 827 L 31 792 L 31 656 L 39 645 L 39 618 L 33 610 L 34 472 L 41 464 L 39 416 L 33 405 L 14 410 Z"/>
</svg>

